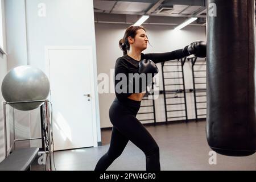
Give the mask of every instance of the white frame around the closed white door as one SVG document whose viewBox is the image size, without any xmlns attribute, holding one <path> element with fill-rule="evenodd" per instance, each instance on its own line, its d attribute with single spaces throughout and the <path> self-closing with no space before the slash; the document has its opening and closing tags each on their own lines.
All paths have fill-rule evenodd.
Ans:
<svg viewBox="0 0 256 182">
<path fill-rule="evenodd" d="M 89 59 L 89 75 L 90 75 L 90 88 L 91 92 L 90 100 L 92 102 L 92 126 L 93 126 L 93 147 L 98 147 L 98 140 L 97 140 L 97 119 L 96 119 L 96 97 L 95 97 L 95 85 L 94 85 L 94 69 L 93 69 L 93 51 L 92 46 L 45 46 L 45 61 L 46 61 L 46 75 L 51 80 L 49 75 L 49 51 L 50 50 L 89 50 L 90 52 L 90 59 Z M 51 82 L 50 82 L 51 84 Z M 51 88 L 50 94 L 51 95 Z M 48 99 L 49 99 L 48 97 Z"/>
</svg>

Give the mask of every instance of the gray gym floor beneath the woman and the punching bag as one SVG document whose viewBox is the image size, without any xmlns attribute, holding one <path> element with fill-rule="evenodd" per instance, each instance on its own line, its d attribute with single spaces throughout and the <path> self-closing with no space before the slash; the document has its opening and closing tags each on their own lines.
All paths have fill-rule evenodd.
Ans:
<svg viewBox="0 0 256 182">
<path fill-rule="evenodd" d="M 217 164 L 209 164 L 205 122 L 146 126 L 160 147 L 161 170 L 256 170 L 256 154 L 231 157 L 217 154 Z M 102 146 L 55 152 L 59 170 L 93 170 L 98 159 L 108 150 L 111 131 L 102 131 Z M 42 169 L 32 166 L 32 170 Z M 108 170 L 145 170 L 145 156 L 129 142 L 123 154 Z"/>
</svg>

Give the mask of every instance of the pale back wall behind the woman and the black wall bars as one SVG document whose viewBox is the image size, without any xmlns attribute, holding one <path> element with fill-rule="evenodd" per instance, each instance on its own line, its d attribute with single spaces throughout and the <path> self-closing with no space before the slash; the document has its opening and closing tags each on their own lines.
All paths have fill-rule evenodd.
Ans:
<svg viewBox="0 0 256 182">
<path fill-rule="evenodd" d="M 110 24 L 110 23 L 95 23 L 96 24 L 96 48 L 97 48 L 97 68 L 98 74 L 106 73 L 110 76 L 110 69 L 114 69 L 115 61 L 122 56 L 122 51 L 118 47 L 119 40 L 129 24 Z M 173 26 L 156 26 L 144 25 L 147 31 L 150 45 L 143 53 L 153 52 L 170 52 L 175 49 L 180 49 L 187 46 L 195 40 L 206 40 L 205 27 L 203 26 L 187 26 L 178 32 L 173 31 Z M 163 90 L 161 65 L 158 64 L 159 85 L 160 90 Z M 191 63 L 184 65 L 186 89 L 193 88 L 192 85 L 192 70 Z M 112 78 L 111 78 L 112 79 Z M 101 81 L 98 81 L 101 82 Z M 175 89 L 175 88 L 172 88 Z M 101 127 L 112 127 L 109 121 L 109 107 L 115 98 L 114 93 L 99 94 L 100 98 L 100 117 Z M 195 109 L 193 102 L 193 94 L 187 94 L 188 119 L 195 118 Z M 163 94 L 155 102 L 156 106 L 156 121 L 165 121 L 164 115 L 164 100 Z M 145 116 L 146 117 L 146 116 Z M 141 119 L 146 119 L 138 117 Z M 144 123 L 144 122 L 143 122 Z"/>
</svg>

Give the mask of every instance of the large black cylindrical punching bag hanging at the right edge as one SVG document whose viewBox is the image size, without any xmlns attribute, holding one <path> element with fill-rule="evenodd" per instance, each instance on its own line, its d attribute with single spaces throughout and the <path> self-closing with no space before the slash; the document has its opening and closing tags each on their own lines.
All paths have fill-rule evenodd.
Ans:
<svg viewBox="0 0 256 182">
<path fill-rule="evenodd" d="M 256 150 L 254 0 L 207 0 L 207 140 L 222 155 Z"/>
</svg>

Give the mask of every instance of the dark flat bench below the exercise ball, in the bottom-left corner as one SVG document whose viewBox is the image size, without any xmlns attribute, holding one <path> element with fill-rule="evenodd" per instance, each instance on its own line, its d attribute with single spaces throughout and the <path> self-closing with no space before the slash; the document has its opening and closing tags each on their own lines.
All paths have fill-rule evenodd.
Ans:
<svg viewBox="0 0 256 182">
<path fill-rule="evenodd" d="M 0 163 L 0 171 L 26 171 L 38 155 L 39 148 L 14 150 Z"/>
</svg>

